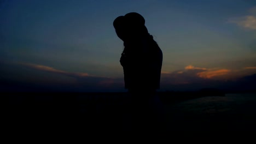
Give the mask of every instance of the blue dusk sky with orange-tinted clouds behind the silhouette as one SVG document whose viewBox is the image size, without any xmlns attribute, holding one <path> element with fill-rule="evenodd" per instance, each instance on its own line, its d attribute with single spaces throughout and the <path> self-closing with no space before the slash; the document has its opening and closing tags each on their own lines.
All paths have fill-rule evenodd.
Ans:
<svg viewBox="0 0 256 144">
<path fill-rule="evenodd" d="M 254 0 L 3 0 L 2 87 L 123 91 L 123 43 L 113 21 L 130 12 L 144 17 L 164 53 L 162 90 L 256 73 Z"/>
</svg>

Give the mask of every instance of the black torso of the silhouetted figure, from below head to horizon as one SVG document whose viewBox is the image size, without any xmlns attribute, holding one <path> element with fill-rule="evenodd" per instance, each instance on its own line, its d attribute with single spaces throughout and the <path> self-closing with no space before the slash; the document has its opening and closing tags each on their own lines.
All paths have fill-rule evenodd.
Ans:
<svg viewBox="0 0 256 144">
<path fill-rule="evenodd" d="M 124 69 L 125 88 L 129 91 L 153 91 L 160 87 L 162 51 L 148 35 L 125 43 L 120 63 Z"/>
</svg>

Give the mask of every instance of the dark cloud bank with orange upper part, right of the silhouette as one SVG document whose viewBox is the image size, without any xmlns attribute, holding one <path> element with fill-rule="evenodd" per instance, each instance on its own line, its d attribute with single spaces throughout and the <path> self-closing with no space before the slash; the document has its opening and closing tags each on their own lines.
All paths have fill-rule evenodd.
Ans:
<svg viewBox="0 0 256 144">
<path fill-rule="evenodd" d="M 185 70 L 177 70 L 169 74 L 163 73 L 161 75 L 161 90 L 197 91 L 202 88 L 218 88 L 226 91 L 256 90 L 256 74 L 241 78 L 236 77 L 236 79 L 224 79 L 224 77 L 232 76 L 232 73 L 252 70 L 255 67 L 248 67 L 238 71 L 196 67 L 186 68 Z"/>
</svg>

